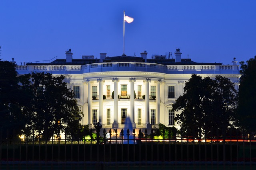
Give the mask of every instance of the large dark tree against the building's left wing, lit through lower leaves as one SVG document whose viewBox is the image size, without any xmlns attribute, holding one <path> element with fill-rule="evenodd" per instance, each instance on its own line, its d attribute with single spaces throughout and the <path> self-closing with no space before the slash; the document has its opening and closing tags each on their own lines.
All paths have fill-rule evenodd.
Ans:
<svg viewBox="0 0 256 170">
<path fill-rule="evenodd" d="M 64 76 L 54 77 L 50 73 L 33 73 L 20 76 L 22 89 L 28 94 L 23 112 L 26 116 L 24 133 L 32 130 L 41 133 L 44 140 L 59 135 L 67 126 L 77 128 L 82 113 L 76 105 L 74 93 L 67 88 Z M 75 126 L 76 125 L 76 126 Z"/>
</svg>

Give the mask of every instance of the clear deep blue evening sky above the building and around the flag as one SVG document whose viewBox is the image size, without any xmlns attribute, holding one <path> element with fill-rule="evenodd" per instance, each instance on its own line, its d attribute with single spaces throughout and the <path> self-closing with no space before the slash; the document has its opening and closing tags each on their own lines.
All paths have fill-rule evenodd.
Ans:
<svg viewBox="0 0 256 170">
<path fill-rule="evenodd" d="M 148 58 L 180 48 L 195 62 L 256 55 L 256 0 L 1 0 L 0 59 L 23 62 L 123 53 Z"/>
</svg>

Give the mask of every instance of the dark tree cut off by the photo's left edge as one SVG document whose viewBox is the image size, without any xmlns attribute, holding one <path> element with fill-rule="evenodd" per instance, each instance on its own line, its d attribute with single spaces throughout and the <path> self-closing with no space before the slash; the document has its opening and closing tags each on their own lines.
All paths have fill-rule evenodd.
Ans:
<svg viewBox="0 0 256 170">
<path fill-rule="evenodd" d="M 24 127 L 19 87 L 15 64 L 0 60 L 0 128 L 4 138 L 17 136 Z"/>
</svg>

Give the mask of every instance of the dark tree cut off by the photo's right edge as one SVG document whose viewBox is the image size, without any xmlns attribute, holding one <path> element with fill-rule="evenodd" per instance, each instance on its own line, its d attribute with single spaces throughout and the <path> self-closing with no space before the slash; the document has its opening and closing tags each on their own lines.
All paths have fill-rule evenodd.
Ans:
<svg viewBox="0 0 256 170">
<path fill-rule="evenodd" d="M 244 63 L 240 62 L 240 86 L 239 86 L 239 125 L 246 134 L 256 133 L 256 56 Z"/>
</svg>

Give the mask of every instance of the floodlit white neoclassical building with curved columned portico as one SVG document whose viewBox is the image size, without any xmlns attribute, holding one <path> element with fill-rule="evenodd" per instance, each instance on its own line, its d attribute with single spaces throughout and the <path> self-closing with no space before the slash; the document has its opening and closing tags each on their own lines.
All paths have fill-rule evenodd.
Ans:
<svg viewBox="0 0 256 170">
<path fill-rule="evenodd" d="M 230 65 L 196 63 L 182 59 L 181 54 L 176 49 L 174 59 L 170 59 L 170 55 L 147 59 L 146 51 L 141 57 L 107 57 L 106 53 L 100 53 L 100 59 L 94 56 L 72 59 L 73 53 L 69 50 L 66 59 L 26 63 L 16 66 L 16 70 L 19 75 L 31 71 L 64 75 L 84 113 L 83 125 L 94 128 L 94 124 L 100 122 L 107 131 L 118 129 L 120 132 L 130 117 L 138 134 L 139 129 L 156 128 L 159 123 L 180 127 L 174 121 L 176 113 L 171 111 L 172 104 L 183 94 L 185 82 L 193 73 L 211 78 L 225 76 L 238 89 L 240 74 L 235 59 Z"/>
</svg>

